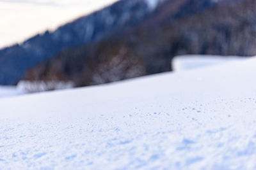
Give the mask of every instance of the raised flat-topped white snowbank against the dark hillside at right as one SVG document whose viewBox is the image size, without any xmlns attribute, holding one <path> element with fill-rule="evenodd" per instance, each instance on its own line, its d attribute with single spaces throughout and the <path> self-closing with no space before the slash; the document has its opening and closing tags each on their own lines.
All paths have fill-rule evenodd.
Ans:
<svg viewBox="0 0 256 170">
<path fill-rule="evenodd" d="M 173 58 L 172 68 L 173 71 L 184 71 L 244 59 L 246 58 L 238 56 L 221 57 L 218 55 L 179 55 Z"/>
</svg>

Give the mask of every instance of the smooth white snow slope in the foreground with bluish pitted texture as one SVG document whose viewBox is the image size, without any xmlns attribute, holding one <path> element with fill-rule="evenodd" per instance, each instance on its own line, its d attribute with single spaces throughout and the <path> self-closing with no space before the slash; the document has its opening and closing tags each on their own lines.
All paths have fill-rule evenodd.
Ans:
<svg viewBox="0 0 256 170">
<path fill-rule="evenodd" d="M 256 169 L 255 66 L 0 99 L 0 169 Z"/>
</svg>

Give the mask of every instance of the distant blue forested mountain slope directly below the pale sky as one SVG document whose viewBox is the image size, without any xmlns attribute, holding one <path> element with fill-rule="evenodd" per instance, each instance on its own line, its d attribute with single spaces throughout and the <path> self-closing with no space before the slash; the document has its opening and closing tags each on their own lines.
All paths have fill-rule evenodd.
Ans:
<svg viewBox="0 0 256 170">
<path fill-rule="evenodd" d="M 152 3 L 142 0 L 119 1 L 108 8 L 81 17 L 61 26 L 54 32 L 46 31 L 21 45 L 0 51 L 0 84 L 14 84 L 24 72 L 72 46 L 97 41 L 112 32 L 120 31 L 142 20 L 152 11 Z"/>
</svg>

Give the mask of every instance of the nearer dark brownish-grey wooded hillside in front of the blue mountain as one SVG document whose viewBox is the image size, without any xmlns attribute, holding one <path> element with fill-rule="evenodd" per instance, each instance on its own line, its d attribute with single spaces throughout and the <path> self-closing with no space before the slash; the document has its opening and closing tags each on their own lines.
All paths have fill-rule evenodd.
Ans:
<svg viewBox="0 0 256 170">
<path fill-rule="evenodd" d="M 127 31 L 61 52 L 24 79 L 95 85 L 170 71 L 176 55 L 255 55 L 255 6 L 253 0 L 165 1 Z"/>
</svg>

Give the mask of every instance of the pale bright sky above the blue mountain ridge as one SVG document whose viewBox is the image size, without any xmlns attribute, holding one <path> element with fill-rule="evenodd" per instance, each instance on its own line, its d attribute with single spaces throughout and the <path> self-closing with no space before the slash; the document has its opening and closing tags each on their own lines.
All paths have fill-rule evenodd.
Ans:
<svg viewBox="0 0 256 170">
<path fill-rule="evenodd" d="M 0 0 L 0 48 L 54 30 L 118 0 Z"/>
</svg>

